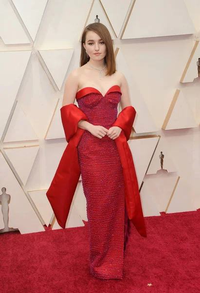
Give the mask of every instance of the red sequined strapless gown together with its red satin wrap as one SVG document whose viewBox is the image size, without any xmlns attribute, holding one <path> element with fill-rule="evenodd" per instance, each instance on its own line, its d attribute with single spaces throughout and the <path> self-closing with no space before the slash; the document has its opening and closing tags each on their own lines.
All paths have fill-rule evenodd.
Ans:
<svg viewBox="0 0 200 293">
<path fill-rule="evenodd" d="M 118 85 L 110 87 L 105 96 L 85 87 L 77 92 L 76 99 L 79 107 L 69 104 L 61 108 L 68 145 L 46 195 L 58 224 L 65 228 L 81 173 L 87 199 L 91 273 L 101 279 L 122 279 L 129 220 L 146 237 L 137 176 L 127 144 L 136 112 L 127 106 L 117 117 L 121 99 Z M 108 136 L 100 139 L 77 126 L 81 119 L 123 130 L 115 140 Z"/>
</svg>

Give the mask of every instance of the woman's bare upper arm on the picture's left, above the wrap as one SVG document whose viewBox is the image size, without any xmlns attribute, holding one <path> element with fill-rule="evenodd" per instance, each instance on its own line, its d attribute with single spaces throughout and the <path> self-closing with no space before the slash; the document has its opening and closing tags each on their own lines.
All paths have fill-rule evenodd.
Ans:
<svg viewBox="0 0 200 293">
<path fill-rule="evenodd" d="M 78 89 L 78 72 L 73 70 L 65 82 L 62 106 L 74 104 Z"/>
</svg>

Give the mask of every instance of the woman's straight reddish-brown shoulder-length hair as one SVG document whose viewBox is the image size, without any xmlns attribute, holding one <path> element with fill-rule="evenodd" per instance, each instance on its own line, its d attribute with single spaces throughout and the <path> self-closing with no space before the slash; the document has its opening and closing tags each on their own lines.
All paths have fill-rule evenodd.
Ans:
<svg viewBox="0 0 200 293">
<path fill-rule="evenodd" d="M 112 45 L 112 39 L 109 33 L 108 28 L 100 22 L 94 22 L 90 23 L 87 25 L 83 31 L 82 38 L 81 38 L 81 57 L 80 57 L 80 67 L 86 64 L 89 60 L 90 57 L 87 57 L 86 50 L 83 46 L 83 43 L 86 42 L 86 34 L 88 31 L 93 31 L 99 37 L 104 41 L 107 52 L 105 56 L 105 62 L 107 64 L 107 74 L 106 75 L 111 75 L 115 73 L 116 71 L 116 63 L 115 63 L 115 57 L 114 57 L 114 50 L 113 50 L 113 45 Z"/>
</svg>

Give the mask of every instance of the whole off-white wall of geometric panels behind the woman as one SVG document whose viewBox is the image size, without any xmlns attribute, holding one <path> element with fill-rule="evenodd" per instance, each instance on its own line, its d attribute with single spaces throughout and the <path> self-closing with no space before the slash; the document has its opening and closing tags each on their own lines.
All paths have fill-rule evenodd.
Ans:
<svg viewBox="0 0 200 293">
<path fill-rule="evenodd" d="M 200 208 L 199 2 L 0 0 L 0 11 L 0 233 L 60 229 L 46 191 L 67 146 L 64 84 L 96 15 L 109 29 L 136 109 L 128 145 L 144 215 Z M 83 220 L 80 176 L 66 228 Z"/>
</svg>

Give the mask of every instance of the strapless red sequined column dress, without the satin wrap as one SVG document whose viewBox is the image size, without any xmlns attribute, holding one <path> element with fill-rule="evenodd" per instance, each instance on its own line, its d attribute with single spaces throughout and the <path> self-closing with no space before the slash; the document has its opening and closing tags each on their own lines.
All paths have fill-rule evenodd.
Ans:
<svg viewBox="0 0 200 293">
<path fill-rule="evenodd" d="M 93 125 L 109 129 L 117 119 L 118 85 L 105 96 L 93 87 L 76 93 L 79 108 Z M 124 251 L 130 233 L 125 207 L 124 177 L 115 140 L 85 130 L 77 146 L 87 201 L 90 231 L 90 272 L 101 279 L 122 279 Z"/>
</svg>

